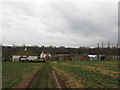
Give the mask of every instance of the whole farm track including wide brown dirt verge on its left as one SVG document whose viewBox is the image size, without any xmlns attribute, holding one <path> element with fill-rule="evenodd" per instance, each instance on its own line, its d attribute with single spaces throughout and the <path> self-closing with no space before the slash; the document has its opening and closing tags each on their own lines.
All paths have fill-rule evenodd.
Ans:
<svg viewBox="0 0 120 90">
<path fill-rule="evenodd" d="M 50 63 L 37 67 L 15 88 L 66 88 Z"/>
</svg>

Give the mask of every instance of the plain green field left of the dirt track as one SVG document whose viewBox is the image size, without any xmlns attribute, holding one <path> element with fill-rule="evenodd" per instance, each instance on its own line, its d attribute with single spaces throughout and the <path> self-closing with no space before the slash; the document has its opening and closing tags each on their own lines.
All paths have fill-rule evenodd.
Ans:
<svg viewBox="0 0 120 90">
<path fill-rule="evenodd" d="M 3 88 L 12 88 L 18 85 L 26 78 L 36 66 L 42 66 L 43 63 L 20 63 L 3 62 L 2 63 L 2 86 Z"/>
</svg>

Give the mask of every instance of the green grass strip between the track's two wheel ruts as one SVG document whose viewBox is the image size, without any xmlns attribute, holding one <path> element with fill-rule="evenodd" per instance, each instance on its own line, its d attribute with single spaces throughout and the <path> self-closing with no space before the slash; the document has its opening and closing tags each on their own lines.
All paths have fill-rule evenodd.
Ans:
<svg viewBox="0 0 120 90">
<path fill-rule="evenodd" d="M 47 62 L 46 65 L 40 71 L 38 81 L 36 82 L 35 88 L 56 88 L 56 82 L 53 79 L 52 67 Z"/>
</svg>

